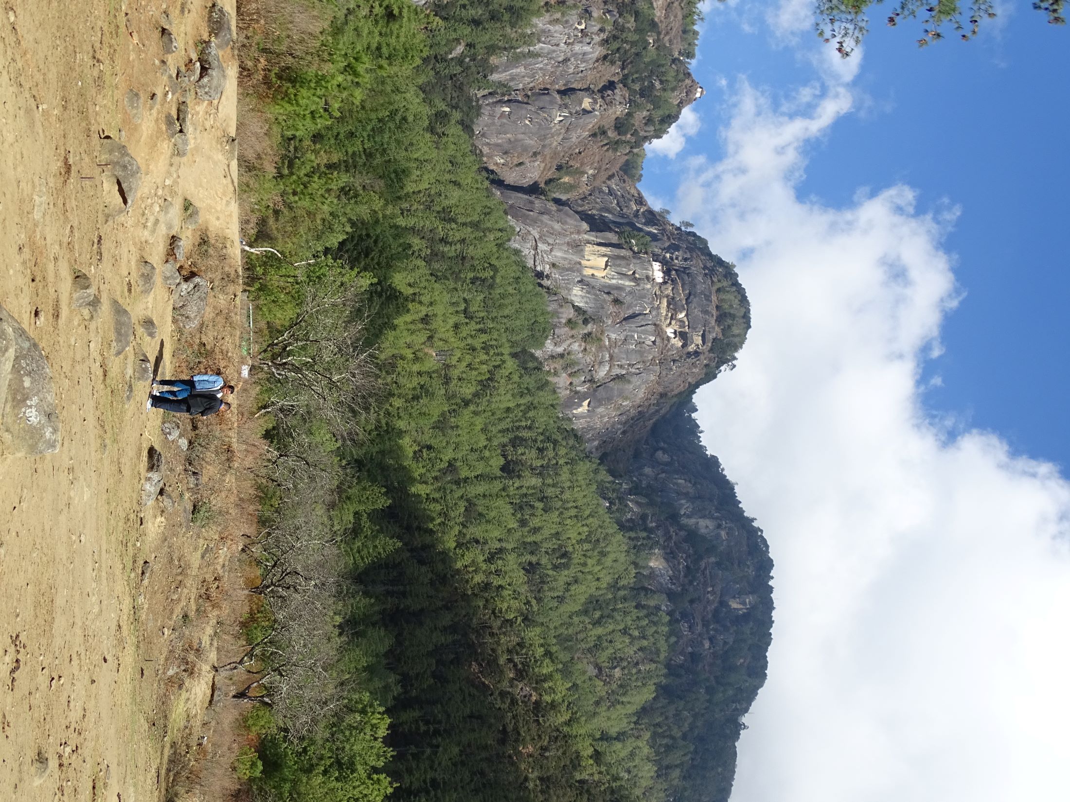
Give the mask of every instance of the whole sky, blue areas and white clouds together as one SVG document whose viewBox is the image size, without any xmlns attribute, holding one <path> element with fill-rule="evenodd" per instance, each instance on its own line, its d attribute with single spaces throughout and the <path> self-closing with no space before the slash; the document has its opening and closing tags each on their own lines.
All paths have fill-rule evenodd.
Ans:
<svg viewBox="0 0 1070 802">
<path fill-rule="evenodd" d="M 844 63 L 810 7 L 709 9 L 642 185 L 751 300 L 696 396 L 775 562 L 732 802 L 1061 802 L 1070 30 Z"/>
</svg>

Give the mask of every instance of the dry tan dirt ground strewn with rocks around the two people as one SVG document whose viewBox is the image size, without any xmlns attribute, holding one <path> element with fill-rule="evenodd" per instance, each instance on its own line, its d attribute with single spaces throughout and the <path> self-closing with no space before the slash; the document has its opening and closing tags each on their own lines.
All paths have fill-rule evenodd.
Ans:
<svg viewBox="0 0 1070 802">
<path fill-rule="evenodd" d="M 223 4 L 233 14 L 233 0 Z M 165 73 L 207 37 L 208 5 L 0 0 L 0 304 L 43 348 L 62 425 L 57 453 L 0 457 L 0 800 L 162 800 L 169 774 L 207 749 L 220 583 L 235 549 L 218 525 L 198 525 L 194 508 L 233 502 L 234 417 L 201 427 L 212 448 L 200 449 L 198 487 L 189 453 L 146 410 L 148 383 L 132 376 L 138 349 L 230 375 L 241 360 L 233 48 L 221 53 L 221 99 L 189 101 L 187 156 L 165 130 L 179 101 Z M 167 57 L 165 12 L 180 44 Z M 102 136 L 128 146 L 142 171 L 131 210 L 113 220 Z M 165 260 L 165 200 L 180 217 L 186 200 L 200 210 L 199 226 L 178 232 L 213 282 L 192 333 L 172 326 L 169 288 L 137 286 L 142 260 Z M 95 320 L 72 308 L 76 268 L 103 302 Z M 120 356 L 111 298 L 134 319 Z M 139 327 L 144 315 L 158 336 Z M 170 509 L 139 503 L 150 445 L 164 454 Z"/>
</svg>

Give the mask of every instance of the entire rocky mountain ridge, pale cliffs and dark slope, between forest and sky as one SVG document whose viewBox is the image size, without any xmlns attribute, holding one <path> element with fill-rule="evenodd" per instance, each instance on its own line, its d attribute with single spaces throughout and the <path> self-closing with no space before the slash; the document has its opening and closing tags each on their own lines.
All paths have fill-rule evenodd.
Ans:
<svg viewBox="0 0 1070 802">
<path fill-rule="evenodd" d="M 562 412 L 621 481 L 622 521 L 648 536 L 643 582 L 674 632 L 647 709 L 664 795 L 720 802 L 765 679 L 771 560 L 689 398 L 734 359 L 749 306 L 734 267 L 630 178 L 702 94 L 686 67 L 693 14 L 689 0 L 553 6 L 535 43 L 498 63 L 475 141 L 547 293 L 538 355 Z"/>
</svg>

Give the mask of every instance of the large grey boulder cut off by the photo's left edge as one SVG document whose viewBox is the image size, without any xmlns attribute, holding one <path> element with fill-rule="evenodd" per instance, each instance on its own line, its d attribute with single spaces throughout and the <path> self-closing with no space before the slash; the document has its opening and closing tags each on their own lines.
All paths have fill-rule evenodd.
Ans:
<svg viewBox="0 0 1070 802">
<path fill-rule="evenodd" d="M 48 360 L 0 306 L 0 457 L 36 457 L 60 447 L 60 418 Z"/>
</svg>

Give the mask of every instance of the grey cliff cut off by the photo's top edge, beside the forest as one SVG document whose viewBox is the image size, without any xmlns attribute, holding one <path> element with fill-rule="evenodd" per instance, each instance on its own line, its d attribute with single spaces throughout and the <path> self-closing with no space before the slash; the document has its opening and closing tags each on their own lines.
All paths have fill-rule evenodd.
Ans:
<svg viewBox="0 0 1070 802">
<path fill-rule="evenodd" d="M 571 191 L 598 186 L 663 133 L 666 108 L 701 96 L 687 70 L 682 0 L 592 0 L 555 6 L 536 20 L 535 44 L 496 64 L 501 89 L 479 98 L 476 145 L 506 184 L 556 179 Z M 660 71 L 629 71 L 656 51 Z M 649 101 L 658 96 L 658 103 Z"/>
</svg>

